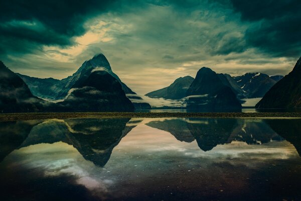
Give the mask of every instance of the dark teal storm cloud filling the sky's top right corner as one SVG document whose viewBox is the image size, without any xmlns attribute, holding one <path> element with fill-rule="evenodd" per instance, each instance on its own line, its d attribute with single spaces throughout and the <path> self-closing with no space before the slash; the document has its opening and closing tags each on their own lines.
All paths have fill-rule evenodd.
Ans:
<svg viewBox="0 0 301 201">
<path fill-rule="evenodd" d="M 247 45 L 273 56 L 301 54 L 301 2 L 299 0 L 231 0 L 243 22 L 254 23 L 245 33 Z"/>
</svg>

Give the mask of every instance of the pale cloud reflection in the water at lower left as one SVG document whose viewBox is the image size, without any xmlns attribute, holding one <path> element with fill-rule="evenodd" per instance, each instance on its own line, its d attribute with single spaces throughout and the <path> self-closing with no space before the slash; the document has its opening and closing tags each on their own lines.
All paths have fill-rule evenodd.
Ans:
<svg viewBox="0 0 301 201">
<path fill-rule="evenodd" d="M 91 174 L 95 175 L 95 165 L 86 161 L 73 146 L 63 142 L 24 147 L 12 152 L 7 160 L 14 160 L 10 168 L 20 165 L 26 169 L 38 168 L 46 177 L 75 176 L 77 184 L 84 185 L 98 195 L 107 192 L 107 185 L 113 183 L 110 179 L 93 178 Z"/>
</svg>

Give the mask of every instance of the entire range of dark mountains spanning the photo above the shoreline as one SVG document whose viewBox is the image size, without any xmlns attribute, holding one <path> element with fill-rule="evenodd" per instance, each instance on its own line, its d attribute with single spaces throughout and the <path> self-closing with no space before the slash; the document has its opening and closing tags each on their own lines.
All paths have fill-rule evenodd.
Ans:
<svg viewBox="0 0 301 201">
<path fill-rule="evenodd" d="M 300 108 L 300 60 L 284 78 L 259 72 L 231 76 L 202 67 L 195 78 L 180 77 L 170 86 L 149 92 L 143 98 L 149 102 L 152 98 L 181 100 L 188 111 L 236 111 L 241 109 L 241 99 L 262 96 L 256 105 L 258 109 Z M 0 88 L 2 113 L 151 109 L 142 96 L 112 71 L 103 54 L 85 61 L 72 76 L 61 80 L 14 73 L 0 62 Z"/>
</svg>

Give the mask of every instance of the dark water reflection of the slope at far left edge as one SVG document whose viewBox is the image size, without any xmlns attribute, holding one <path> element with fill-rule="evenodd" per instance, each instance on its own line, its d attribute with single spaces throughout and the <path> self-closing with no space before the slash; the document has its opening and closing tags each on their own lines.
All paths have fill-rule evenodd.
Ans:
<svg viewBox="0 0 301 201">
<path fill-rule="evenodd" d="M 0 122 L 0 161 L 18 148 L 38 121 Z"/>
</svg>

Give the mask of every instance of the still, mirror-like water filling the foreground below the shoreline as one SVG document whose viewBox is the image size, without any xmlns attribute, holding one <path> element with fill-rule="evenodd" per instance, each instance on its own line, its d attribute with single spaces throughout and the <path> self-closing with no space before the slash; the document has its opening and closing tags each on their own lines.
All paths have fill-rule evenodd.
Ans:
<svg viewBox="0 0 301 201">
<path fill-rule="evenodd" d="M 301 120 L 0 122 L 1 200 L 300 200 Z"/>
</svg>

